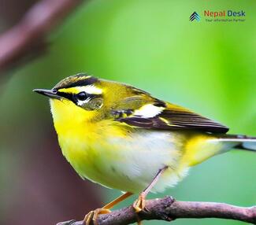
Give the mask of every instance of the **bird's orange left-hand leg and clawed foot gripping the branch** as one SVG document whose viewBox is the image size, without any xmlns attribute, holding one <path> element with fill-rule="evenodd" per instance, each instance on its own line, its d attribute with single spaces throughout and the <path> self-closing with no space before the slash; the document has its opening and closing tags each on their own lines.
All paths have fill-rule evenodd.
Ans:
<svg viewBox="0 0 256 225">
<path fill-rule="evenodd" d="M 119 202 L 124 201 L 127 197 L 130 197 L 132 193 L 127 192 L 125 194 L 122 194 L 120 197 L 117 197 L 115 200 L 109 202 L 109 204 L 103 206 L 102 208 L 97 208 L 94 211 L 91 211 L 87 213 L 86 216 L 84 216 L 83 224 L 84 225 L 90 225 L 91 220 L 94 224 L 97 224 L 97 217 L 99 214 L 106 214 L 111 212 L 110 209 L 113 208 L 114 205 L 117 205 Z"/>
</svg>

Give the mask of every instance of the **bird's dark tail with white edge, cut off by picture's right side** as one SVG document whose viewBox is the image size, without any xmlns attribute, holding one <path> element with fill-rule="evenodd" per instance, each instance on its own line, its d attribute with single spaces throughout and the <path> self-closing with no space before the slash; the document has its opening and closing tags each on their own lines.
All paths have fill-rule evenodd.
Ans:
<svg viewBox="0 0 256 225">
<path fill-rule="evenodd" d="M 256 153 L 256 137 L 247 137 L 246 135 L 225 135 L 220 138 L 223 144 L 232 145 L 233 149 L 243 149 Z"/>
</svg>

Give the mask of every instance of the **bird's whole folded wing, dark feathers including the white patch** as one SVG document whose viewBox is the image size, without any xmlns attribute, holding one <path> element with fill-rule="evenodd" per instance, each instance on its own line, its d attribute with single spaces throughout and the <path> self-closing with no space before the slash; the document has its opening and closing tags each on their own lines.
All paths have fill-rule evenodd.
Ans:
<svg viewBox="0 0 256 225">
<path fill-rule="evenodd" d="M 178 105 L 154 99 L 138 109 L 113 111 L 115 121 L 132 127 L 158 130 L 198 130 L 226 133 L 228 127 Z"/>
</svg>

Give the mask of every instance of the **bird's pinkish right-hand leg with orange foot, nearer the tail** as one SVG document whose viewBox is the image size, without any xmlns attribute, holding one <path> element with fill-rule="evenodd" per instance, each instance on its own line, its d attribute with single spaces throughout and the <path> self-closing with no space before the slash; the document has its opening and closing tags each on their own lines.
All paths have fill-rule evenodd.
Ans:
<svg viewBox="0 0 256 225">
<path fill-rule="evenodd" d="M 145 201 L 147 194 L 149 194 L 150 190 L 153 188 L 153 186 L 158 183 L 159 177 L 162 175 L 163 172 L 168 168 L 168 166 L 165 166 L 164 168 L 161 168 L 157 175 L 154 176 L 154 179 L 151 181 L 151 183 L 143 190 L 142 193 L 139 194 L 138 199 L 133 203 L 133 208 L 135 209 L 135 212 L 140 212 L 145 208 Z M 138 224 L 141 224 L 140 221 L 138 221 Z"/>
</svg>

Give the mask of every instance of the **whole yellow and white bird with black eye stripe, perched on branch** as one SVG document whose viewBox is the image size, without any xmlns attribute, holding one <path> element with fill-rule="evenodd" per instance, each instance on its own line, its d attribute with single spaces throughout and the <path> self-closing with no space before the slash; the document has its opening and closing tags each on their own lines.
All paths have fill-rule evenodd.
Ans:
<svg viewBox="0 0 256 225">
<path fill-rule="evenodd" d="M 141 212 L 147 194 L 175 186 L 210 157 L 256 152 L 256 138 L 228 135 L 223 124 L 125 83 L 79 73 L 34 91 L 50 98 L 59 146 L 78 175 L 123 193 L 88 212 L 86 225 L 132 194 Z"/>
</svg>

